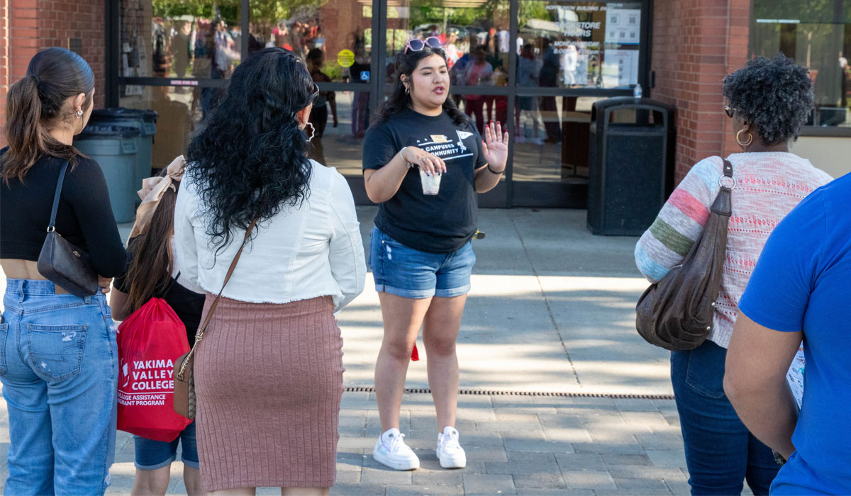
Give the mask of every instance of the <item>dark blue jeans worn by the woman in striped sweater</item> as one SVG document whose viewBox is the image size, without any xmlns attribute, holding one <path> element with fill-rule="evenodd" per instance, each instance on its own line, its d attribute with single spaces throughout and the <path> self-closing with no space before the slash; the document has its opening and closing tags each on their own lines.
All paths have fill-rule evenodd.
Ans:
<svg viewBox="0 0 851 496">
<path fill-rule="evenodd" d="M 692 494 L 768 494 L 780 470 L 771 449 L 742 424 L 724 394 L 727 350 L 706 340 L 671 352 L 671 383 L 683 430 Z"/>
</svg>

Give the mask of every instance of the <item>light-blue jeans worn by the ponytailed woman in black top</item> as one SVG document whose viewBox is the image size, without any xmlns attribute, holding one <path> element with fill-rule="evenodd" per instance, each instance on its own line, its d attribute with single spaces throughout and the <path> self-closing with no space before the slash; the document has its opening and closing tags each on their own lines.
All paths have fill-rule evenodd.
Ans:
<svg viewBox="0 0 851 496">
<path fill-rule="evenodd" d="M 115 455 L 116 331 L 103 294 L 7 279 L 0 380 L 9 408 L 6 494 L 103 494 Z"/>
</svg>

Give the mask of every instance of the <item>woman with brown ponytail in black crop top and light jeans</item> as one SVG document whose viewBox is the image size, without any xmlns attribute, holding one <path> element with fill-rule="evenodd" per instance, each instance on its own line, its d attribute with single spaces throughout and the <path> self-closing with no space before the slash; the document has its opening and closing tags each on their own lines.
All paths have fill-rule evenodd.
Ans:
<svg viewBox="0 0 851 496">
<path fill-rule="evenodd" d="M 72 145 L 94 74 L 65 48 L 37 53 L 9 88 L 0 150 L 0 263 L 7 277 L 0 380 L 9 408 L 12 494 L 102 494 L 115 451 L 116 334 L 104 293 L 127 263 L 100 166 Z M 60 172 L 55 230 L 89 254 L 101 292 L 68 294 L 37 259 Z"/>
</svg>

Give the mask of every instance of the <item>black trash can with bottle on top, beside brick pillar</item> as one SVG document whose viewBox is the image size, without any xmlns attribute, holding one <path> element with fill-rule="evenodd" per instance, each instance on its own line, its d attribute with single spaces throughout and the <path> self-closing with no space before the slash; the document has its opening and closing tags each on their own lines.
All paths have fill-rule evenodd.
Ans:
<svg viewBox="0 0 851 496">
<path fill-rule="evenodd" d="M 673 186 L 674 107 L 618 97 L 591 108 L 588 229 L 606 236 L 647 230 Z"/>
</svg>

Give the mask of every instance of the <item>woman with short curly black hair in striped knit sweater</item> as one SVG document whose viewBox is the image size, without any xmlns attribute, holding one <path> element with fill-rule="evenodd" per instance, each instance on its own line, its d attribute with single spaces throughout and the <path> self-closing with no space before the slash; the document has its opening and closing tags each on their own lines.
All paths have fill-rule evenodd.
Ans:
<svg viewBox="0 0 851 496">
<path fill-rule="evenodd" d="M 683 430 L 692 494 L 739 494 L 743 481 L 768 494 L 780 469 L 770 448 L 741 422 L 724 394 L 724 361 L 739 299 L 774 226 L 831 177 L 789 151 L 813 110 L 806 68 L 784 55 L 757 57 L 724 78 L 724 111 L 741 149 L 733 165 L 733 214 L 711 334 L 691 351 L 671 353 L 671 383 Z M 644 232 L 636 263 L 652 282 L 680 264 L 703 230 L 722 183 L 722 157 L 697 162 Z"/>
</svg>

